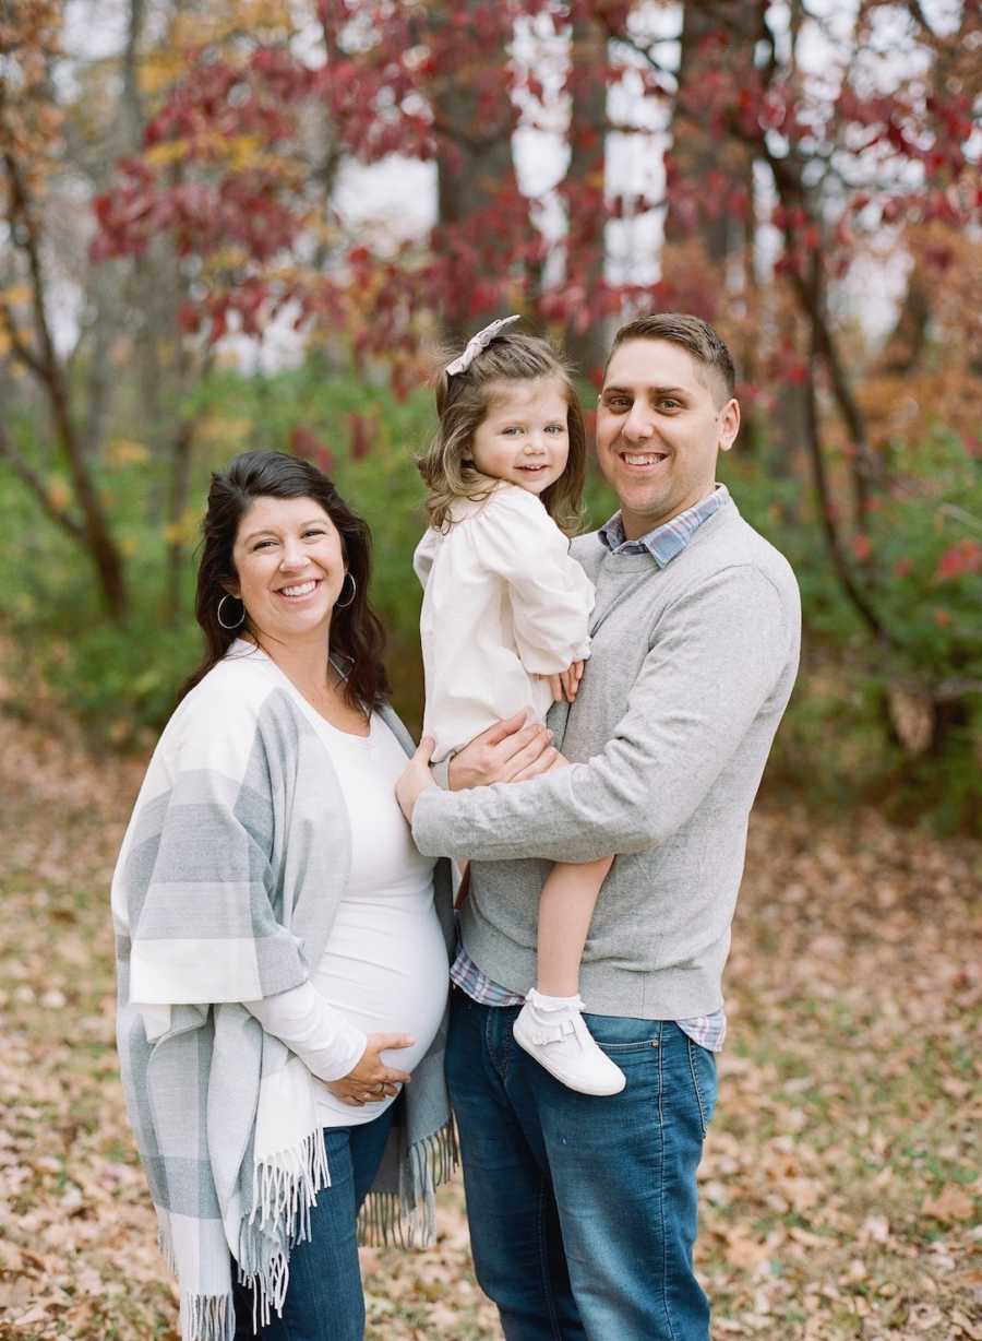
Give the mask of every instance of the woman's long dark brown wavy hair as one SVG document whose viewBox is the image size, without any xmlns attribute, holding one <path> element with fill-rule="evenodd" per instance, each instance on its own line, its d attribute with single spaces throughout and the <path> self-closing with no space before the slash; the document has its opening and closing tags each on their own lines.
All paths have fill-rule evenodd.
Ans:
<svg viewBox="0 0 982 1341">
<path fill-rule="evenodd" d="M 330 652 L 342 662 L 347 703 L 364 709 L 380 707 L 390 691 L 382 664 L 384 633 L 368 605 L 371 532 L 326 475 L 309 461 L 284 452 L 242 452 L 224 471 L 212 475 L 208 512 L 201 523 L 204 542 L 194 605 L 205 634 L 205 658 L 184 685 L 181 697 L 222 660 L 240 634 L 251 632 L 248 616 L 238 628 L 222 628 L 218 603 L 228 585 L 237 579 L 232 547 L 238 526 L 256 499 L 264 498 L 313 499 L 334 522 L 347 571 L 355 582 L 355 595 L 351 605 L 334 607 Z M 344 593 L 347 595 L 347 585 Z M 241 602 L 229 597 L 222 607 L 225 624 L 233 624 L 240 613 L 244 613 Z"/>
</svg>

